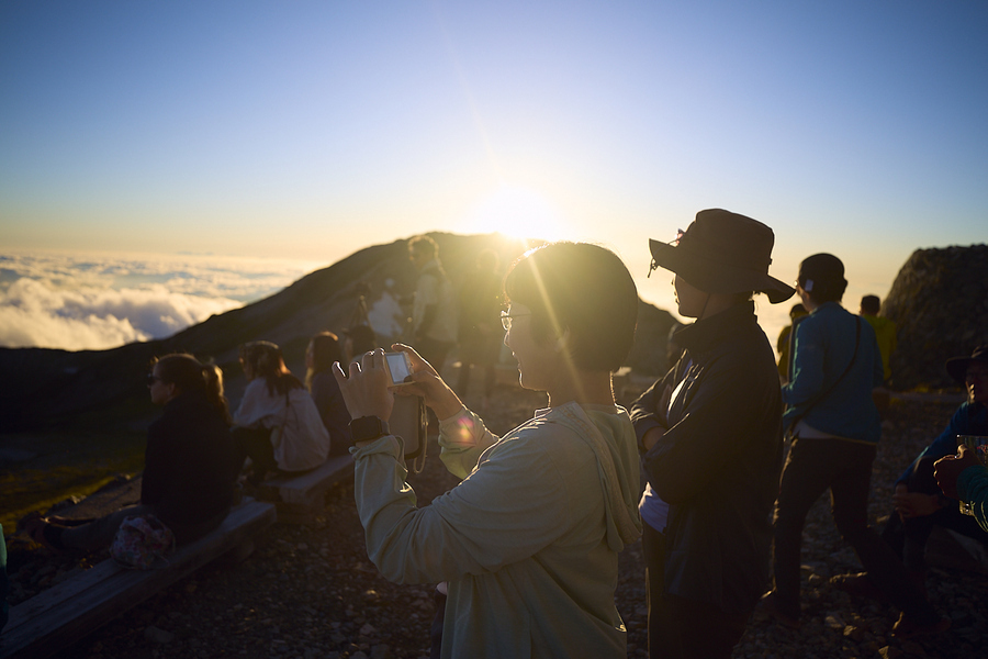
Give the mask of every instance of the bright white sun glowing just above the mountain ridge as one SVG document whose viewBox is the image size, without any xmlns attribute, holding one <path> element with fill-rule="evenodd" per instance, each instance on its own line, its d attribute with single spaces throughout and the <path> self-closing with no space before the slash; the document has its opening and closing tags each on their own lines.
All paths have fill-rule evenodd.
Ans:
<svg viewBox="0 0 988 659">
<path fill-rule="evenodd" d="M 480 200 L 463 223 L 468 233 L 501 233 L 515 238 L 560 241 L 569 237 L 560 209 L 528 188 L 501 186 Z"/>
</svg>

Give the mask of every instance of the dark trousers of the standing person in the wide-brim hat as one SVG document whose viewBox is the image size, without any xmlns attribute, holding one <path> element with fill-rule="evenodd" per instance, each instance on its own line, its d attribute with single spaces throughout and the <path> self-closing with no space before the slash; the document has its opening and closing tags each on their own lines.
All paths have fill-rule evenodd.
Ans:
<svg viewBox="0 0 988 659">
<path fill-rule="evenodd" d="M 727 613 L 709 602 L 665 592 L 665 536 L 642 524 L 645 596 L 651 659 L 710 659 L 731 656 L 748 624 L 748 613 Z"/>
</svg>

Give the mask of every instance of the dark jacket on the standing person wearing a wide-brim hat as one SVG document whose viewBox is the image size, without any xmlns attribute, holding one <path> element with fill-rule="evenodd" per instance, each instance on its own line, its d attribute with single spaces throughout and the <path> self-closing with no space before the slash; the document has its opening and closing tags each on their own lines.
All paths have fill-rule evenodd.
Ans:
<svg viewBox="0 0 988 659">
<path fill-rule="evenodd" d="M 775 359 L 750 302 L 687 325 L 675 339 L 686 353 L 631 406 L 639 443 L 649 428 L 667 428 L 642 457 L 652 489 L 670 504 L 665 588 L 746 612 L 768 581 L 782 470 Z"/>
</svg>

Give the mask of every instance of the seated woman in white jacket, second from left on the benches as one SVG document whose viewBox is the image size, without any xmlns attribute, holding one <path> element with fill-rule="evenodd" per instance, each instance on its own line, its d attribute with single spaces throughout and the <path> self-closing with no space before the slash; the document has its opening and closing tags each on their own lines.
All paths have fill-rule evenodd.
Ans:
<svg viewBox="0 0 988 659">
<path fill-rule="evenodd" d="M 269 471 L 308 471 L 326 461 L 329 433 L 312 396 L 284 366 L 281 348 L 267 340 L 240 346 L 240 365 L 250 381 L 234 414 L 234 440 L 249 457 L 252 484 Z"/>
</svg>

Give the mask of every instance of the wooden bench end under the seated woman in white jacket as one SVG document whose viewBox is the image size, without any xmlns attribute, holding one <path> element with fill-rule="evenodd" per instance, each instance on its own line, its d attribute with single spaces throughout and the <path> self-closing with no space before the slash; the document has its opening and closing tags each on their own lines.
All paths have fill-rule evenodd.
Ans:
<svg viewBox="0 0 988 659">
<path fill-rule="evenodd" d="M 349 454 L 330 456 L 319 467 L 299 476 L 268 479 L 261 488 L 278 501 L 279 522 L 311 524 L 323 510 L 326 490 L 348 478 L 353 478 L 353 456 Z"/>
</svg>

